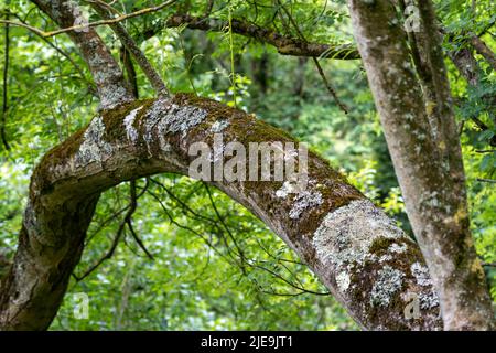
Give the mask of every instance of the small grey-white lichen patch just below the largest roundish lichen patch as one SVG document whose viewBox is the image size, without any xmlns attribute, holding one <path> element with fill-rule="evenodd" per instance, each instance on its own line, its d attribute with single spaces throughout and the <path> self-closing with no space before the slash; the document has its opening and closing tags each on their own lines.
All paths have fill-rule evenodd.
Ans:
<svg viewBox="0 0 496 353">
<path fill-rule="evenodd" d="M 376 282 L 370 292 L 370 304 L 373 307 L 387 307 L 395 293 L 401 289 L 405 274 L 390 266 L 385 266 L 378 272 Z"/>
</svg>

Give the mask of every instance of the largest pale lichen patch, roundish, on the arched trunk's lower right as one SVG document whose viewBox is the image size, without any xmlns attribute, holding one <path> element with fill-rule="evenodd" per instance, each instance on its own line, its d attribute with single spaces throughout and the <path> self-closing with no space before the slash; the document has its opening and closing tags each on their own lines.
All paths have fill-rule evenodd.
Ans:
<svg viewBox="0 0 496 353">
<path fill-rule="evenodd" d="M 369 248 L 379 238 L 407 239 L 407 236 L 370 201 L 355 200 L 330 212 L 313 234 L 312 243 L 324 266 L 351 269 L 367 259 L 378 260 Z"/>
</svg>

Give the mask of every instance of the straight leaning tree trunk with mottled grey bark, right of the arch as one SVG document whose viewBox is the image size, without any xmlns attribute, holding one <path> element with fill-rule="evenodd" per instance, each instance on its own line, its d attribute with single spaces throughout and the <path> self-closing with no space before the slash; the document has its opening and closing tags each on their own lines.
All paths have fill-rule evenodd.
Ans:
<svg viewBox="0 0 496 353">
<path fill-rule="evenodd" d="M 425 31 L 417 35 L 423 84 L 392 3 L 348 4 L 407 213 L 440 296 L 444 328 L 490 329 L 490 298 L 470 233 L 460 139 L 432 4 L 419 4 Z"/>
</svg>

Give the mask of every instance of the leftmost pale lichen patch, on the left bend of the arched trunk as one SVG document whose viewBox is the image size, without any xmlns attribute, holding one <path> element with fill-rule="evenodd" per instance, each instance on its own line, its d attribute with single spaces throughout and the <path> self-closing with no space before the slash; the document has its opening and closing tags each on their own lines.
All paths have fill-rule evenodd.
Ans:
<svg viewBox="0 0 496 353">
<path fill-rule="evenodd" d="M 105 125 L 101 117 L 91 120 L 83 136 L 83 143 L 75 156 L 76 165 L 86 165 L 91 162 L 101 162 L 110 156 L 112 148 L 104 140 Z"/>
</svg>

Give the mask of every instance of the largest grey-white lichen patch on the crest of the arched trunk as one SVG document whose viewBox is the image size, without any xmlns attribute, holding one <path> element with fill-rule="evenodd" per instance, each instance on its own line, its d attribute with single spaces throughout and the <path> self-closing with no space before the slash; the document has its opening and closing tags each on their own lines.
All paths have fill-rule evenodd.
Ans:
<svg viewBox="0 0 496 353">
<path fill-rule="evenodd" d="M 161 147 L 168 142 L 168 133 L 181 133 L 201 124 L 207 116 L 207 111 L 194 106 L 179 106 L 171 104 L 165 98 L 157 99 L 144 117 L 144 140 L 150 146 L 153 141 L 153 132 L 159 137 Z"/>
</svg>

